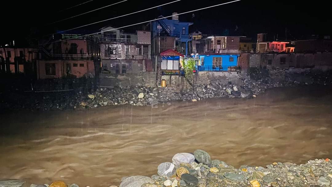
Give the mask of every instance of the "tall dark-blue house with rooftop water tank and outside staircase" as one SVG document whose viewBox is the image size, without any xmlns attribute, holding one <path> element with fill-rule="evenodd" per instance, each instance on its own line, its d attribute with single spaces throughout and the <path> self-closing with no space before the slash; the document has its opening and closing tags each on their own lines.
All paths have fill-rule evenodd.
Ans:
<svg viewBox="0 0 332 187">
<path fill-rule="evenodd" d="M 178 50 L 178 52 L 188 55 L 188 45 L 190 45 L 189 42 L 192 41 L 189 37 L 189 26 L 191 25 L 193 25 L 193 23 L 180 22 L 178 16 L 173 16 L 171 20 L 166 18 L 156 20 L 151 23 L 152 38 L 159 36 L 175 37 L 178 48 L 183 49 Z"/>
</svg>

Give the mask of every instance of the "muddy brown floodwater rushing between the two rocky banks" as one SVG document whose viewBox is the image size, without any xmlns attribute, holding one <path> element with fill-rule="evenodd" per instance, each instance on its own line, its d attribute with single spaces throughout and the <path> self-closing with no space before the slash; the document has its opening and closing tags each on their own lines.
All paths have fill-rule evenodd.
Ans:
<svg viewBox="0 0 332 187">
<path fill-rule="evenodd" d="M 332 157 L 331 87 L 268 90 L 254 99 L 0 115 L 0 178 L 119 185 L 204 149 L 239 167 Z"/>
</svg>

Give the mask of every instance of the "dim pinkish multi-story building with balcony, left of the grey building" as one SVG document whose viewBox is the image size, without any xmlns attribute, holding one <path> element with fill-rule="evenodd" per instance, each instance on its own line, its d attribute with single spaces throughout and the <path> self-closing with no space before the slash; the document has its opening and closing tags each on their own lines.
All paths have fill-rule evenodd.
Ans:
<svg viewBox="0 0 332 187">
<path fill-rule="evenodd" d="M 60 34 L 43 41 L 37 60 L 37 78 L 82 77 L 99 71 L 100 37 Z M 44 44 L 43 44 L 44 43 Z M 96 69 L 97 68 L 97 69 Z"/>
</svg>

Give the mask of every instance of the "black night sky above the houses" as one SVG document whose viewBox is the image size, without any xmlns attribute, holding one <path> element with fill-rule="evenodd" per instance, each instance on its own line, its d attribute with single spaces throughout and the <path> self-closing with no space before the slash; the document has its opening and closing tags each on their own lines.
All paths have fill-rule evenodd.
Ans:
<svg viewBox="0 0 332 187">
<path fill-rule="evenodd" d="M 96 21 L 113 18 L 138 10 L 161 5 L 172 0 L 149 1 L 127 0 L 114 6 L 110 6 L 95 12 L 91 12 L 72 19 L 47 25 L 54 21 L 65 19 L 77 14 L 91 11 L 118 1 L 93 0 L 83 5 L 61 11 L 68 7 L 86 2 L 85 1 L 5 1 L 2 2 L 1 14 L 1 37 L 4 41 L 15 39 L 16 44 L 24 45 L 27 37 L 39 37 L 58 30 L 67 30 Z M 116 27 L 126 26 L 138 22 L 152 20 L 159 15 L 169 16 L 172 12 L 186 12 L 228 1 L 205 0 L 189 1 L 181 0 L 161 9 L 152 9 L 119 19 L 91 25 L 81 28 L 84 33 L 92 33 L 105 25 Z M 301 39 L 304 35 L 323 34 L 330 35 L 331 16 L 329 6 L 325 1 L 276 1 L 276 0 L 242 0 L 227 5 L 221 5 L 210 9 L 180 15 L 180 21 L 194 22 L 190 31 L 199 30 L 203 34 L 222 35 L 225 29 L 230 35 L 252 37 L 254 40 L 257 33 L 268 33 L 273 39 L 278 34 L 280 40 L 285 39 L 285 30 L 288 30 L 288 39 Z M 5 3 L 5 4 L 3 4 Z M 326 3 L 325 3 L 326 4 Z M 61 12 L 59 12 L 61 11 Z M 238 31 L 234 31 L 238 26 Z M 127 32 L 141 30 L 142 26 L 126 28 Z"/>
</svg>

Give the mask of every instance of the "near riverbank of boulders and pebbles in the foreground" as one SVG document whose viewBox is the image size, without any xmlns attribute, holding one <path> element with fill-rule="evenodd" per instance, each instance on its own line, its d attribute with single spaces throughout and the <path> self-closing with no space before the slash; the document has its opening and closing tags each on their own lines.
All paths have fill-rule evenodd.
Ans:
<svg viewBox="0 0 332 187">
<path fill-rule="evenodd" d="M 332 161 L 309 160 L 297 165 L 290 162 L 273 162 L 266 167 L 242 165 L 235 168 L 221 160 L 212 160 L 204 150 L 194 153 L 177 153 L 172 162 L 156 168 L 157 174 L 130 176 L 121 179 L 120 187 L 331 187 Z M 3 179 L 0 187 L 21 187 L 25 181 Z M 30 187 L 67 187 L 63 181 Z M 69 187 L 78 187 L 71 184 Z M 116 187 L 116 186 L 112 186 Z"/>
</svg>

